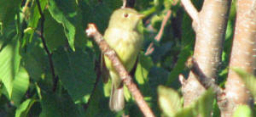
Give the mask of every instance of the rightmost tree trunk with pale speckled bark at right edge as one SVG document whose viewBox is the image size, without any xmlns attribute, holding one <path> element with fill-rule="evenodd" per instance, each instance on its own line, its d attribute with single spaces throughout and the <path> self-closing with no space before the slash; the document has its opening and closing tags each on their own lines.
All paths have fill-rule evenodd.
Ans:
<svg viewBox="0 0 256 117">
<path fill-rule="evenodd" d="M 236 29 L 232 46 L 230 68 L 240 68 L 254 74 L 256 68 L 256 1 L 238 0 L 236 4 Z M 245 84 L 230 70 L 226 83 L 228 109 L 223 116 L 232 116 L 236 107 L 247 104 L 253 108 L 253 97 Z"/>
</svg>

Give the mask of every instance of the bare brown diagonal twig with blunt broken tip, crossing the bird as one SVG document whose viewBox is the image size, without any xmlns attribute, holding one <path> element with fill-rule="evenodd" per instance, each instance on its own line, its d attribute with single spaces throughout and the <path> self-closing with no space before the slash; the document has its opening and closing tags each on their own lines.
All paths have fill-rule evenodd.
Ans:
<svg viewBox="0 0 256 117">
<path fill-rule="evenodd" d="M 96 25 L 89 24 L 86 30 L 87 36 L 92 36 L 94 41 L 98 44 L 102 53 L 109 58 L 112 62 L 114 69 L 119 73 L 119 77 L 124 81 L 128 87 L 131 95 L 134 97 L 139 109 L 143 112 L 146 117 L 154 117 L 152 110 L 148 107 L 148 104 L 143 99 L 142 93 L 138 90 L 136 84 L 132 81 L 131 75 L 125 70 L 123 64 L 121 64 L 117 54 L 111 49 L 108 43 L 103 39 L 102 34 L 97 31 Z"/>
</svg>

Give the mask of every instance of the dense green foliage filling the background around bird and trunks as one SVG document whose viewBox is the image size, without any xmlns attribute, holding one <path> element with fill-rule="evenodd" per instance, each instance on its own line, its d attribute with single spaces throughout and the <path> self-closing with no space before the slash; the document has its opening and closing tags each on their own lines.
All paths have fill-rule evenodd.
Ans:
<svg viewBox="0 0 256 117">
<path fill-rule="evenodd" d="M 143 116 L 127 90 L 125 110 L 113 113 L 108 109 L 110 87 L 103 84 L 99 75 L 101 52 L 84 34 L 88 23 L 95 23 L 103 34 L 111 13 L 121 5 L 121 0 L 0 1 L 0 116 Z M 189 74 L 184 63 L 193 53 L 195 33 L 181 4 L 173 0 L 137 0 L 135 8 L 147 17 L 140 27 L 145 40 L 133 73 L 134 81 L 154 114 L 207 117 L 214 109 L 213 115 L 219 116 L 211 89 L 191 107 L 182 108 L 177 77 Z M 233 4 L 233 15 L 234 8 Z M 156 42 L 154 36 L 169 9 L 172 10 L 171 18 L 160 42 Z M 219 84 L 224 84 L 227 75 L 233 15 L 226 31 Z M 150 42 L 154 43 L 154 52 L 145 55 Z M 55 91 L 52 90 L 55 86 L 53 72 L 58 80 Z M 245 73 L 240 75 L 246 77 Z M 246 82 L 255 96 L 255 79 Z M 247 107 L 236 110 L 237 116 L 251 113 Z"/>
</svg>

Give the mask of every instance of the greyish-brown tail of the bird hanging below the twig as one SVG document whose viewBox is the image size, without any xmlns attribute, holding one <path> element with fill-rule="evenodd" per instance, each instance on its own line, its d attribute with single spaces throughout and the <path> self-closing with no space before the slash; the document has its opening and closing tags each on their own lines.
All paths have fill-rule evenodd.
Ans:
<svg viewBox="0 0 256 117">
<path fill-rule="evenodd" d="M 112 90 L 109 99 L 109 108 L 118 112 L 125 107 L 125 97 L 124 97 L 124 88 L 123 86 L 115 87 L 112 83 Z"/>
</svg>

